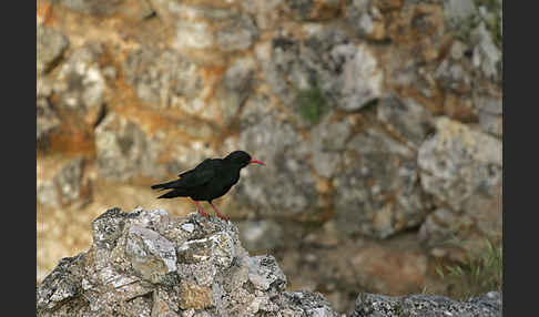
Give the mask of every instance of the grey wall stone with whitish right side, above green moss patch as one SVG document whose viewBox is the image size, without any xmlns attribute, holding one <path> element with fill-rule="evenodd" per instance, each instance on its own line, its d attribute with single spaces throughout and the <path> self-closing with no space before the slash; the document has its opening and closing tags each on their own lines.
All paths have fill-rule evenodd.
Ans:
<svg viewBox="0 0 539 317">
<path fill-rule="evenodd" d="M 308 25 L 304 32 L 305 39 L 277 33 L 263 64 L 265 80 L 285 105 L 301 112 L 298 95 L 313 90 L 345 111 L 382 96 L 384 72 L 368 44 L 354 43 L 336 27 Z"/>
</svg>

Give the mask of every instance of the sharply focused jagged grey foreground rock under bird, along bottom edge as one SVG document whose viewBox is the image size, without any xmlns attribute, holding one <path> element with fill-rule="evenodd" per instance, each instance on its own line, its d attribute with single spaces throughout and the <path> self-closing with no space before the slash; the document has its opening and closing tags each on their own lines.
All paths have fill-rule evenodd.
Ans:
<svg viewBox="0 0 539 317">
<path fill-rule="evenodd" d="M 319 293 L 285 292 L 276 259 L 250 256 L 230 222 L 112 208 L 92 222 L 92 235 L 88 250 L 62 258 L 38 286 L 37 316 L 339 316 Z M 400 313 L 501 316 L 501 295 L 457 303 L 363 294 L 349 316 Z"/>
</svg>

